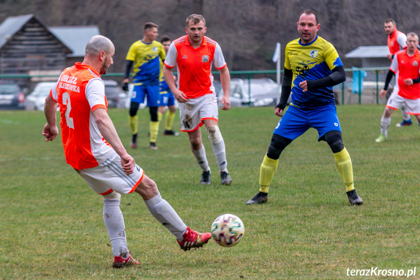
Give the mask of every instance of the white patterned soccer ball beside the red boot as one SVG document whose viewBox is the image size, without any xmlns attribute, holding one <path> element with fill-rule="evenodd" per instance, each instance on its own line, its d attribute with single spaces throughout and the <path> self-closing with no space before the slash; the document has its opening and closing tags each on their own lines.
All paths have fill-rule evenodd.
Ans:
<svg viewBox="0 0 420 280">
<path fill-rule="evenodd" d="M 223 214 L 214 220 L 210 231 L 213 239 L 220 246 L 232 247 L 242 239 L 245 227 L 239 217 Z"/>
</svg>

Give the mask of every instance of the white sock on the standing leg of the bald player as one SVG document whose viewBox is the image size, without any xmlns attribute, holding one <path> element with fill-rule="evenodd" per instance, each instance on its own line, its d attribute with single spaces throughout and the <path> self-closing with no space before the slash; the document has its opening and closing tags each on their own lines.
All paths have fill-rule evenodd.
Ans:
<svg viewBox="0 0 420 280">
<path fill-rule="evenodd" d="M 127 259 L 129 256 L 123 213 L 119 199 L 104 199 L 104 222 L 110 236 L 112 253 Z"/>
</svg>

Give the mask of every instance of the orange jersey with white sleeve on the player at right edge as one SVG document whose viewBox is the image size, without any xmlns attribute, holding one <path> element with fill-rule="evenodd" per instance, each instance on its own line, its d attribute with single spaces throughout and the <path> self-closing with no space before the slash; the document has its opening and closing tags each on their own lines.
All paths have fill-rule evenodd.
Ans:
<svg viewBox="0 0 420 280">
<path fill-rule="evenodd" d="M 420 52 L 416 49 L 413 56 L 407 55 L 407 50 L 395 54 L 389 70 L 398 72 L 398 95 L 407 99 L 420 98 L 420 83 L 407 86 L 405 79 L 417 79 L 420 76 Z"/>
</svg>

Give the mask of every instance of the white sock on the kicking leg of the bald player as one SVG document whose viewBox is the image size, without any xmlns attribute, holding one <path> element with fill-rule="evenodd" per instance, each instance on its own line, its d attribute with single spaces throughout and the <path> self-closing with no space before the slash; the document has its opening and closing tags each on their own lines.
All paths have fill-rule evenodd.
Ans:
<svg viewBox="0 0 420 280">
<path fill-rule="evenodd" d="M 145 200 L 145 203 L 153 217 L 175 235 L 179 241 L 182 241 L 187 226 L 172 206 L 162 198 L 161 194 L 158 193 L 152 199 Z"/>
</svg>

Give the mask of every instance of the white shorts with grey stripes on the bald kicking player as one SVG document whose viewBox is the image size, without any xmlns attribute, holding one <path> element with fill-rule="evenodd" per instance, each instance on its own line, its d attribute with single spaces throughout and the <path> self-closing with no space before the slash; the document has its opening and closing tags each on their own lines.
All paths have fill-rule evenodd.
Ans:
<svg viewBox="0 0 420 280">
<path fill-rule="evenodd" d="M 114 150 L 99 166 L 76 171 L 93 191 L 102 195 L 109 194 L 113 190 L 119 194 L 133 192 L 143 180 L 145 173 L 142 168 L 135 165 L 134 172 L 127 175 L 121 167 L 120 156 Z"/>
</svg>

